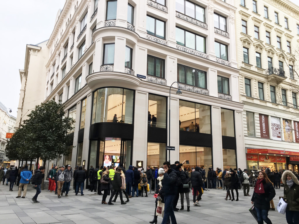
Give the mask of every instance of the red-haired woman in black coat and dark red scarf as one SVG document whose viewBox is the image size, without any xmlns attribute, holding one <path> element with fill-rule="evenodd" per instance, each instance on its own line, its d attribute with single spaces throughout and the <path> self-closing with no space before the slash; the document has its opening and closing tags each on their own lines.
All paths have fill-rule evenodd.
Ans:
<svg viewBox="0 0 299 224">
<path fill-rule="evenodd" d="M 257 182 L 254 187 L 254 192 L 251 198 L 251 204 L 254 205 L 257 212 L 257 223 L 262 224 L 263 221 L 267 224 L 272 224 L 268 218 L 270 209 L 270 200 L 275 197 L 273 184 L 264 171 L 260 171 L 257 177 Z"/>
</svg>

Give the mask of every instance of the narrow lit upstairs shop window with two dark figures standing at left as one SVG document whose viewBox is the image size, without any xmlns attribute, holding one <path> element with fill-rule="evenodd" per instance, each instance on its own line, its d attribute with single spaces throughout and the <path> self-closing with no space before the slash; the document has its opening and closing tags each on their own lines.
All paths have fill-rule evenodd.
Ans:
<svg viewBox="0 0 299 224">
<path fill-rule="evenodd" d="M 148 116 L 151 118 L 151 123 L 149 125 L 155 128 L 166 128 L 167 98 L 149 94 L 148 107 Z"/>
</svg>

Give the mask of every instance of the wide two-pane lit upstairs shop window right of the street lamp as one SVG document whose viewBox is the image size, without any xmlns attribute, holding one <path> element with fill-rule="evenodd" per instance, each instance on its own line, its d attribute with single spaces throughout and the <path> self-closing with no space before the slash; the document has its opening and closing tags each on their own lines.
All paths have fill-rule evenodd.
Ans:
<svg viewBox="0 0 299 224">
<path fill-rule="evenodd" d="M 179 116 L 181 131 L 211 134 L 210 106 L 180 100 Z"/>
</svg>

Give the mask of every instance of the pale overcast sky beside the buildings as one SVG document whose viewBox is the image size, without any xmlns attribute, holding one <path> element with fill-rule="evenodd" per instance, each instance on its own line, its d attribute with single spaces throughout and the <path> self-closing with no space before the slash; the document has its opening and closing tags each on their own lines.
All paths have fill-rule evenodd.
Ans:
<svg viewBox="0 0 299 224">
<path fill-rule="evenodd" d="M 235 0 L 238 1 L 238 0 Z M 291 0 L 299 5 L 299 0 Z M 49 39 L 59 9 L 65 0 L 15 0 L 0 3 L 0 102 L 17 115 L 21 81 L 19 69 L 24 69 L 26 44 Z"/>
</svg>

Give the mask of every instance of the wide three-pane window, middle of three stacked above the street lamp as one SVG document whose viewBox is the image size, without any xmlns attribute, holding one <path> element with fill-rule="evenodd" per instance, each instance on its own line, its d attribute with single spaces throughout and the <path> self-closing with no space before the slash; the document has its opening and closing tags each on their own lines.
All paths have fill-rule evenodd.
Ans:
<svg viewBox="0 0 299 224">
<path fill-rule="evenodd" d="M 176 43 L 206 53 L 205 37 L 176 27 Z"/>
</svg>

